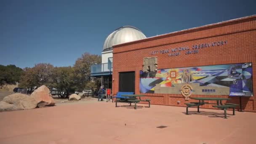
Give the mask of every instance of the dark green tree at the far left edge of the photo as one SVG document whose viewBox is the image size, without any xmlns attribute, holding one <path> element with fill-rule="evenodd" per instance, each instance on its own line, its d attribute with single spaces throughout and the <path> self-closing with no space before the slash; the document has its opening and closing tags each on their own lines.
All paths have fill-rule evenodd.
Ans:
<svg viewBox="0 0 256 144">
<path fill-rule="evenodd" d="M 0 85 L 4 83 L 15 84 L 20 82 L 20 77 L 24 71 L 15 65 L 0 65 Z"/>
</svg>

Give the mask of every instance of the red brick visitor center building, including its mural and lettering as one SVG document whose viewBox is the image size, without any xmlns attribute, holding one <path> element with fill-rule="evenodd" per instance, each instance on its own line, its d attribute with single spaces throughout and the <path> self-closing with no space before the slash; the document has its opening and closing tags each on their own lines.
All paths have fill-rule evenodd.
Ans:
<svg viewBox="0 0 256 144">
<path fill-rule="evenodd" d="M 241 96 L 243 110 L 256 112 L 255 74 L 256 15 L 113 45 L 112 93 L 145 94 L 152 104 L 184 107 L 187 83 L 191 97 L 239 104 Z"/>
</svg>

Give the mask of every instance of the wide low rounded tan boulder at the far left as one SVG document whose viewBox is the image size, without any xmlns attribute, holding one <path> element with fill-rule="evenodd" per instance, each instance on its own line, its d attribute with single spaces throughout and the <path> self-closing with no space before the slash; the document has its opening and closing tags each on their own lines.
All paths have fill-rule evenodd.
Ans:
<svg viewBox="0 0 256 144">
<path fill-rule="evenodd" d="M 37 107 L 37 102 L 34 99 L 22 93 L 5 96 L 1 104 L 3 107 L 8 107 L 7 110 L 34 109 Z"/>
</svg>

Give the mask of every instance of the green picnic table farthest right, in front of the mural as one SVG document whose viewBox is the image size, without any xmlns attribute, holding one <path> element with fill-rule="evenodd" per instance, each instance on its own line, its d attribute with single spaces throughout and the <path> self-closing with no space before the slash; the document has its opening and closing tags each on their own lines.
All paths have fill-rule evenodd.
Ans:
<svg viewBox="0 0 256 144">
<path fill-rule="evenodd" d="M 231 103 L 223 104 L 222 103 L 223 100 L 230 100 L 230 98 L 205 98 L 205 97 L 202 97 L 202 98 L 190 98 L 190 99 L 199 100 L 199 102 L 185 103 L 187 105 L 187 110 L 186 110 L 187 115 L 188 115 L 188 108 L 189 107 L 197 107 L 197 112 L 200 112 L 199 111 L 199 106 L 203 106 L 204 104 L 217 104 L 217 105 L 213 105 L 213 107 L 223 109 L 225 118 L 227 118 L 227 111 L 226 110 L 228 108 L 232 108 L 233 109 L 233 115 L 235 115 L 235 107 L 238 106 L 238 104 L 231 104 Z M 216 103 L 209 103 L 209 102 L 205 102 L 205 101 L 216 101 Z"/>
</svg>

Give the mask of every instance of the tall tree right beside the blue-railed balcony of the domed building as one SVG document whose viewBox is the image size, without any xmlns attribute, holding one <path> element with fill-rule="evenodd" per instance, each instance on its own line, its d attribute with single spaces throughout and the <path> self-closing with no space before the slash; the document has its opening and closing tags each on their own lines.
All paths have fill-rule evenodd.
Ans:
<svg viewBox="0 0 256 144">
<path fill-rule="evenodd" d="M 91 65 L 100 64 L 101 56 L 84 53 L 74 64 L 75 70 L 75 83 L 77 89 L 82 91 L 85 88 L 86 83 L 91 81 Z"/>
</svg>

